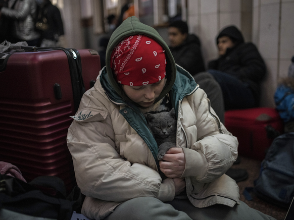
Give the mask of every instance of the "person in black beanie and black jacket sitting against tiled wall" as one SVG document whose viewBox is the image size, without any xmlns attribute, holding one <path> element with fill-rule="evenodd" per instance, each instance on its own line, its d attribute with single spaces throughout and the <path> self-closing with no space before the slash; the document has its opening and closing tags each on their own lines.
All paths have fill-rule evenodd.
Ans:
<svg viewBox="0 0 294 220">
<path fill-rule="evenodd" d="M 216 38 L 219 58 L 209 62 L 208 72 L 220 84 L 225 110 L 257 107 L 260 82 L 266 66 L 257 47 L 244 42 L 235 26 L 220 31 Z"/>
</svg>

